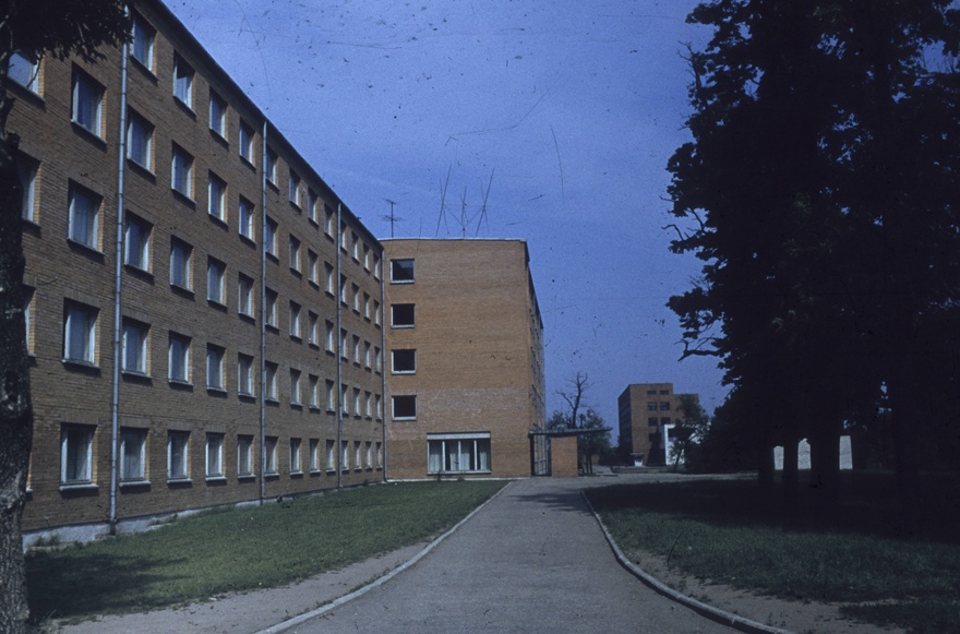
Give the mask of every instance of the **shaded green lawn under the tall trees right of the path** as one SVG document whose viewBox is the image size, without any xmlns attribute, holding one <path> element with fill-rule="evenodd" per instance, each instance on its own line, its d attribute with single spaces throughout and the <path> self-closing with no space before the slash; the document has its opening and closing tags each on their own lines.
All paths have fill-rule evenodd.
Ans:
<svg viewBox="0 0 960 634">
<path fill-rule="evenodd" d="M 621 548 L 669 557 L 687 574 L 848 603 L 850 617 L 912 632 L 960 632 L 957 481 L 927 485 L 923 531 L 909 536 L 897 519 L 892 477 L 880 474 L 844 475 L 839 516 L 801 526 L 758 503 L 751 480 L 615 486 L 589 495 Z M 801 489 L 809 511 L 808 489 Z"/>
</svg>

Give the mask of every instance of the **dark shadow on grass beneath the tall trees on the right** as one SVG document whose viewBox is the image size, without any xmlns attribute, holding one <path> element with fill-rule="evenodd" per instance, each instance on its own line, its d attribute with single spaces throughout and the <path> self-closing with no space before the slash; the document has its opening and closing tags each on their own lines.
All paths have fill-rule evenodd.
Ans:
<svg viewBox="0 0 960 634">
<path fill-rule="evenodd" d="M 615 485 L 589 491 L 598 511 L 644 509 L 698 519 L 716 526 L 769 526 L 802 531 L 832 531 L 890 539 L 960 543 L 960 477 L 926 475 L 922 517 L 909 527 L 900 521 L 896 479 L 884 472 L 843 472 L 836 514 L 820 514 L 819 491 L 802 474 L 795 510 L 776 497 L 760 495 L 755 480 L 699 480 Z"/>
</svg>

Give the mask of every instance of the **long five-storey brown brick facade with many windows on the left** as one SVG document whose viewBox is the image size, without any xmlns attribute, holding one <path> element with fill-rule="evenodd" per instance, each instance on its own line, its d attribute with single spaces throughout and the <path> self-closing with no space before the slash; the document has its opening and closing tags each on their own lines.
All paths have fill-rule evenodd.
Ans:
<svg viewBox="0 0 960 634">
<path fill-rule="evenodd" d="M 157 0 L 16 57 L 27 538 L 383 479 L 383 250 Z"/>
</svg>

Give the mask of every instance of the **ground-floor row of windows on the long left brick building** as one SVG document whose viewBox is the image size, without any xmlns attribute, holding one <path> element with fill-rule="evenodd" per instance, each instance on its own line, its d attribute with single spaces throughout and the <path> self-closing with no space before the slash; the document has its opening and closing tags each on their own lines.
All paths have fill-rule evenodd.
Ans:
<svg viewBox="0 0 960 634">
<path fill-rule="evenodd" d="M 96 428 L 84 424 L 63 424 L 60 432 L 60 483 L 64 488 L 91 487 L 94 485 L 94 435 Z M 148 430 L 137 428 L 121 428 L 119 477 L 121 485 L 147 485 L 151 481 L 148 470 Z M 228 472 L 238 478 L 253 478 L 254 472 L 254 436 L 239 434 L 237 436 L 236 463 L 228 466 L 225 457 L 226 434 L 207 432 L 203 435 L 190 432 L 170 430 L 166 438 L 167 470 L 166 479 L 171 483 L 191 481 L 191 438 L 204 439 L 204 477 L 207 480 L 224 480 Z M 265 458 L 263 465 L 265 476 L 279 475 L 277 436 L 266 436 Z M 289 441 L 288 472 L 297 476 L 303 472 L 303 441 L 291 438 Z M 352 459 L 351 459 L 352 445 Z M 311 474 L 336 471 L 337 454 L 336 441 L 325 440 L 321 445 L 320 439 L 308 439 L 305 466 Z M 232 453 L 232 452 L 231 452 Z M 347 470 L 352 465 L 355 469 L 374 469 L 383 467 L 383 445 L 373 441 L 341 441 L 339 454 L 340 468 Z M 228 471 L 229 469 L 229 471 Z"/>
</svg>

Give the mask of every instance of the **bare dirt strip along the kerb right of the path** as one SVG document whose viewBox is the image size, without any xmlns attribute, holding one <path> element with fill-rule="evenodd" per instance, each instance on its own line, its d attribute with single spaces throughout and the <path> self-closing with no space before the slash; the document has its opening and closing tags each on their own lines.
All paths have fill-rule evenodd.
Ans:
<svg viewBox="0 0 960 634">
<path fill-rule="evenodd" d="M 759 595 L 680 573 L 667 565 L 664 557 L 638 550 L 625 550 L 624 554 L 646 573 L 688 597 L 773 627 L 801 634 L 905 634 L 899 627 L 853 621 L 840 614 L 837 603 L 817 601 L 815 597 L 788 600 Z"/>
</svg>

